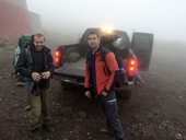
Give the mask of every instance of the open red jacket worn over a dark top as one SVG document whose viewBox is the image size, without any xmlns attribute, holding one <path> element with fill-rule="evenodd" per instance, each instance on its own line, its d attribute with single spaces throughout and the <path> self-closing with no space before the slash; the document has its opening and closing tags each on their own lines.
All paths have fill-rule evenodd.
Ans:
<svg viewBox="0 0 186 140">
<path fill-rule="evenodd" d="M 109 69 L 109 73 L 107 69 Z M 101 94 L 104 90 L 109 91 L 116 70 L 118 70 L 118 65 L 114 52 L 106 54 L 105 61 L 101 59 L 100 51 L 95 54 L 95 80 L 97 94 Z M 84 88 L 90 89 L 90 66 L 88 60 L 85 62 Z"/>
</svg>

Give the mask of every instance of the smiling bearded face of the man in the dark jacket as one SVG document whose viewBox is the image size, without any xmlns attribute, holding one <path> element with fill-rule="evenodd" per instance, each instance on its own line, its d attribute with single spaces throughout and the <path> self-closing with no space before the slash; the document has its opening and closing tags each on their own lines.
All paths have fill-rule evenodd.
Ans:
<svg viewBox="0 0 186 140">
<path fill-rule="evenodd" d="M 43 36 L 35 36 L 34 37 L 34 46 L 36 51 L 40 51 L 42 48 L 44 47 L 45 39 Z"/>
</svg>

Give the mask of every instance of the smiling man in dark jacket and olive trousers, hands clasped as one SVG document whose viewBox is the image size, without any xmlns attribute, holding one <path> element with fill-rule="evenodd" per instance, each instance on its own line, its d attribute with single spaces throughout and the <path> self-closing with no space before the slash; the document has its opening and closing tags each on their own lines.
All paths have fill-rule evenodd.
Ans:
<svg viewBox="0 0 186 140">
<path fill-rule="evenodd" d="M 48 107 L 48 88 L 55 67 L 50 49 L 44 43 L 44 35 L 34 35 L 34 45 L 21 51 L 16 63 L 18 72 L 25 77 L 30 94 L 30 130 L 34 140 L 43 140 L 42 127 L 54 131 Z"/>
</svg>

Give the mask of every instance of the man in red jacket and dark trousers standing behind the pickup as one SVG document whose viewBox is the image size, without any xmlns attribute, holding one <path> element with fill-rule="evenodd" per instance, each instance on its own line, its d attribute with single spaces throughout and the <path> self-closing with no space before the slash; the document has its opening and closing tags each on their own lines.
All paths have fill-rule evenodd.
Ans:
<svg viewBox="0 0 186 140">
<path fill-rule="evenodd" d="M 100 36 L 96 32 L 90 32 L 88 44 L 91 48 L 85 63 L 85 96 L 95 98 L 107 119 L 107 130 L 113 132 L 116 140 L 124 140 L 123 127 L 117 113 L 117 100 L 114 90 L 115 72 L 118 65 L 114 52 L 109 51 L 102 60 L 101 52 L 106 48 L 100 47 Z"/>
</svg>

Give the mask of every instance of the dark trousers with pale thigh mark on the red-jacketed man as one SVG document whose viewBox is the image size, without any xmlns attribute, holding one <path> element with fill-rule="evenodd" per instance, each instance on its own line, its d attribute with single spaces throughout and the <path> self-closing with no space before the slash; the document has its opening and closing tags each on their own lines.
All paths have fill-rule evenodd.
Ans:
<svg viewBox="0 0 186 140">
<path fill-rule="evenodd" d="M 98 95 L 97 102 L 106 115 L 107 128 L 114 132 L 116 140 L 124 140 L 123 127 L 118 117 L 115 91 L 107 96 Z"/>
</svg>

